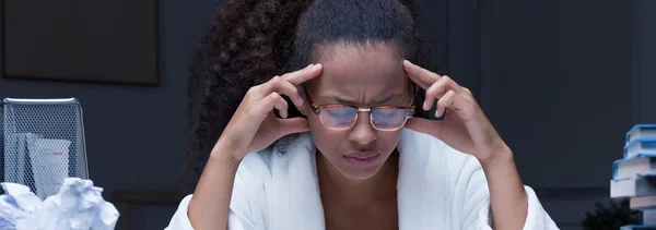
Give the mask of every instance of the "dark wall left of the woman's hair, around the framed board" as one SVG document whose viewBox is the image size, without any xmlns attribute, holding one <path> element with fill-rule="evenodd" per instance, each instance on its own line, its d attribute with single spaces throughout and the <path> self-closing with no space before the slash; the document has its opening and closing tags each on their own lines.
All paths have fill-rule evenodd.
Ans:
<svg viewBox="0 0 656 230">
<path fill-rule="evenodd" d="M 221 2 L 159 2 L 161 84 L 157 87 L 0 77 L 0 98 L 80 99 L 89 169 L 95 184 L 106 189 L 105 197 L 115 190 L 179 189 L 187 138 L 187 63 L 203 26 Z M 122 215 L 130 219 L 130 229 L 163 229 L 174 210 L 173 206 L 142 206 Z"/>
</svg>

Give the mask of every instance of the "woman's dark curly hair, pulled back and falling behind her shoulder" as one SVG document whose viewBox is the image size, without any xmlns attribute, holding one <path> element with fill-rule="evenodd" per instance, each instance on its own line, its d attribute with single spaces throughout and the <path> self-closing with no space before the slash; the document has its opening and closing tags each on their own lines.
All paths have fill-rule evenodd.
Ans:
<svg viewBox="0 0 656 230">
<path fill-rule="evenodd" d="M 189 65 L 185 192 L 196 187 L 248 88 L 309 64 L 318 46 L 385 41 L 398 46 L 401 57 L 433 68 L 415 14 L 413 0 L 227 0 L 206 27 Z M 302 116 L 294 107 L 289 114 Z"/>
</svg>

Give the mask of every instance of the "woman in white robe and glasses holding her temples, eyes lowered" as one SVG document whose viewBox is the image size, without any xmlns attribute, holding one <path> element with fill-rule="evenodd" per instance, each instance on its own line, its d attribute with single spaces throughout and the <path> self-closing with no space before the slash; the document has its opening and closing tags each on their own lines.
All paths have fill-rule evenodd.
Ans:
<svg viewBox="0 0 656 230">
<path fill-rule="evenodd" d="M 471 93 L 414 64 L 411 5 L 229 0 L 168 229 L 558 229 Z"/>
</svg>

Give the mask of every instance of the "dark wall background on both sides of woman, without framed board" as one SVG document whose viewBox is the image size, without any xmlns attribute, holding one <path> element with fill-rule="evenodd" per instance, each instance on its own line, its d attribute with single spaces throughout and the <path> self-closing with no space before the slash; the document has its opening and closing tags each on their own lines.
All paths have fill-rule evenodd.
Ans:
<svg viewBox="0 0 656 230">
<path fill-rule="evenodd" d="M 159 86 L 0 78 L 0 98 L 79 98 L 89 168 L 108 199 L 177 191 L 188 57 L 222 3 L 160 0 Z M 581 229 L 584 213 L 609 197 L 625 132 L 656 122 L 656 1 L 419 4 L 438 72 L 473 90 L 559 227 Z M 121 219 L 129 229 L 163 229 L 175 208 L 130 205 Z"/>
</svg>

